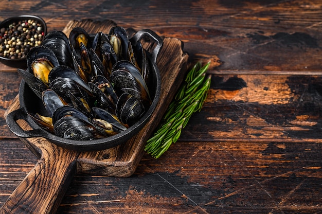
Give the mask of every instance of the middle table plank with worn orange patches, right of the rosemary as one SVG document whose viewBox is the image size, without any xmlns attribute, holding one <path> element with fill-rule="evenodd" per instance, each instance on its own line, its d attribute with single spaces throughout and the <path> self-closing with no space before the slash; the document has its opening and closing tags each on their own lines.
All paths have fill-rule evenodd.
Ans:
<svg viewBox="0 0 322 214">
<path fill-rule="evenodd" d="M 322 142 L 321 76 L 213 75 L 181 140 Z"/>
</svg>

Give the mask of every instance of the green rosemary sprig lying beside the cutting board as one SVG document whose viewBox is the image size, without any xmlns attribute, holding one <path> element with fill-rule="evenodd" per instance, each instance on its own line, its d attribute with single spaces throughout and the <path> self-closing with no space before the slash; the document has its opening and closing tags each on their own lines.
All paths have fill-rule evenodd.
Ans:
<svg viewBox="0 0 322 214">
<path fill-rule="evenodd" d="M 145 151 L 154 158 L 160 157 L 177 141 L 191 115 L 201 110 L 210 87 L 211 75 L 205 78 L 209 65 L 210 62 L 201 67 L 198 62 L 192 67 L 154 135 L 147 141 Z"/>
</svg>

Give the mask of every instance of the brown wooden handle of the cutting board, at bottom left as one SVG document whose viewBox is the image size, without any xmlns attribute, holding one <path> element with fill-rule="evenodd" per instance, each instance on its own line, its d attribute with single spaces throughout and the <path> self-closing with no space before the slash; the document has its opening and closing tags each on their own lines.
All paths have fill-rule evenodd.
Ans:
<svg viewBox="0 0 322 214">
<path fill-rule="evenodd" d="M 53 144 L 41 150 L 42 157 L 12 192 L 0 213 L 56 213 L 76 173 L 79 152 Z"/>
</svg>

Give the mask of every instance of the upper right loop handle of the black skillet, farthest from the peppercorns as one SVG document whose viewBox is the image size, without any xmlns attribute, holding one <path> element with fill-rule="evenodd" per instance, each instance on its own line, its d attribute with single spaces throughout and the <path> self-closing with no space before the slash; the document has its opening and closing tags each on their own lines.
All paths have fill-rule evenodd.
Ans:
<svg viewBox="0 0 322 214">
<path fill-rule="evenodd" d="M 156 64 L 157 55 L 163 45 L 163 40 L 159 37 L 159 35 L 157 35 L 153 30 L 150 29 L 142 29 L 137 31 L 133 35 L 133 40 L 137 42 L 145 36 L 149 37 L 156 43 L 156 46 L 151 53 L 151 60 L 154 64 Z"/>
</svg>

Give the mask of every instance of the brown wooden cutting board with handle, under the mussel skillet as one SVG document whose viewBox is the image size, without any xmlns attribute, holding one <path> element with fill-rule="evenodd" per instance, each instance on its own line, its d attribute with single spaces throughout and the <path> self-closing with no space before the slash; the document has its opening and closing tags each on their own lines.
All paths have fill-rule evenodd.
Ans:
<svg viewBox="0 0 322 214">
<path fill-rule="evenodd" d="M 110 20 L 70 21 L 63 32 L 68 35 L 71 29 L 83 27 L 89 33 L 108 33 L 114 25 Z M 162 119 L 188 67 L 188 54 L 183 51 L 183 43 L 175 38 L 164 38 L 163 42 L 156 63 L 162 79 L 161 95 L 146 126 L 126 143 L 96 152 L 63 149 L 41 137 L 21 138 L 40 159 L 10 195 L 0 213 L 55 213 L 76 172 L 118 177 L 134 173 L 144 154 L 147 139 Z M 153 48 L 153 45 L 146 43 L 145 47 Z M 5 116 L 19 108 L 17 96 Z M 31 129 L 26 121 L 18 122 L 24 130 Z"/>
</svg>

